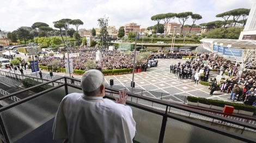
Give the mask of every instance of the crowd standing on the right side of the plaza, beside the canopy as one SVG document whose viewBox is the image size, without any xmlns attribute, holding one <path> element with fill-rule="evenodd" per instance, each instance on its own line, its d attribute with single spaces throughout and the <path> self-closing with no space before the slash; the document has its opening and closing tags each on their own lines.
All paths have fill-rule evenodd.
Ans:
<svg viewBox="0 0 256 143">
<path fill-rule="evenodd" d="M 210 70 L 215 69 L 217 74 L 226 75 L 221 80 L 221 92 L 230 93 L 229 100 L 243 101 L 247 105 L 255 105 L 256 72 L 255 70 L 241 70 L 239 63 L 225 60 L 214 53 L 187 53 L 191 59 L 185 63 L 178 62 L 170 65 L 170 72 L 178 79 L 190 79 L 197 83 L 199 80 L 210 81 L 210 95 L 217 88 L 216 79 L 210 79 Z M 203 77 L 202 77 L 203 75 Z"/>
</svg>

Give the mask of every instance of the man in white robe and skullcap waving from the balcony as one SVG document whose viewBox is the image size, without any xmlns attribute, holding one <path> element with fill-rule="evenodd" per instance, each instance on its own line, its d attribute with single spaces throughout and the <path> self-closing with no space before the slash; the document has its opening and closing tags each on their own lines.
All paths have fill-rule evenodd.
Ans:
<svg viewBox="0 0 256 143">
<path fill-rule="evenodd" d="M 103 99 L 103 74 L 88 70 L 81 79 L 83 93 L 66 95 L 53 123 L 53 139 L 79 142 L 132 142 L 136 122 L 132 109 L 125 106 L 127 94 L 119 92 L 116 102 Z"/>
</svg>

